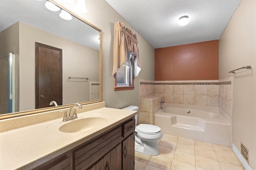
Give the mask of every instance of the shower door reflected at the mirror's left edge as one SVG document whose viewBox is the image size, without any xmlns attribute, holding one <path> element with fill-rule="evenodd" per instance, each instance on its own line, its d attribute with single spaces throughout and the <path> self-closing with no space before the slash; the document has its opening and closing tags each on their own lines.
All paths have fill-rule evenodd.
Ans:
<svg viewBox="0 0 256 170">
<path fill-rule="evenodd" d="M 0 114 L 15 110 L 15 55 L 0 58 Z"/>
</svg>

